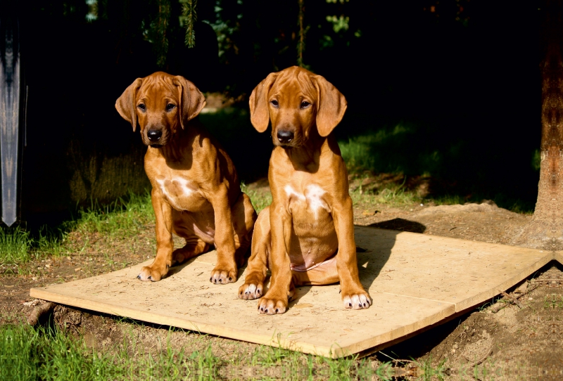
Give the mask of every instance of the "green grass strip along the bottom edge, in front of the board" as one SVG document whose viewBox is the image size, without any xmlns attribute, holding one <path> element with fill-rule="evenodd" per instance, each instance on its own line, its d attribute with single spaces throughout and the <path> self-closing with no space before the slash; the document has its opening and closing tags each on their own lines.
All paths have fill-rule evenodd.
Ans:
<svg viewBox="0 0 563 381">
<path fill-rule="evenodd" d="M 217 356 L 210 346 L 171 349 L 168 343 L 152 354 L 127 341 L 96 351 L 82 337 L 56 328 L 0 326 L 1 380 L 217 380 L 249 370 L 255 380 L 280 375 L 284 380 L 390 380 L 392 374 L 388 363 L 372 368 L 355 357 L 328 359 L 264 346 L 244 359 Z"/>
</svg>

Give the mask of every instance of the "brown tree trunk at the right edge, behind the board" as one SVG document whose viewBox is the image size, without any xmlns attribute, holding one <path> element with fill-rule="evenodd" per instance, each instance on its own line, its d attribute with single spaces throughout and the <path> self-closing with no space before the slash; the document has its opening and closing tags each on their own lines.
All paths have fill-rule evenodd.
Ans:
<svg viewBox="0 0 563 381">
<path fill-rule="evenodd" d="M 563 7 L 548 1 L 543 26 L 540 182 L 531 222 L 513 243 L 545 250 L 563 249 Z"/>
</svg>

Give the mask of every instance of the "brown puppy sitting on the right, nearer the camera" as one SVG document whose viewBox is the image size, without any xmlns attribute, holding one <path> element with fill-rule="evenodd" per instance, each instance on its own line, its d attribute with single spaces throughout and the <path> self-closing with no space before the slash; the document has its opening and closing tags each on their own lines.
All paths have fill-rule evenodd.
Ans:
<svg viewBox="0 0 563 381">
<path fill-rule="evenodd" d="M 254 227 L 248 276 L 239 298 L 256 299 L 260 314 L 283 314 L 296 285 L 340 281 L 346 308 L 372 304 L 358 277 L 348 172 L 331 131 L 346 99 L 320 75 L 289 67 L 252 92 L 251 122 L 272 121 L 274 150 L 268 179 L 273 201 Z M 266 267 L 270 290 L 262 296 Z"/>
</svg>

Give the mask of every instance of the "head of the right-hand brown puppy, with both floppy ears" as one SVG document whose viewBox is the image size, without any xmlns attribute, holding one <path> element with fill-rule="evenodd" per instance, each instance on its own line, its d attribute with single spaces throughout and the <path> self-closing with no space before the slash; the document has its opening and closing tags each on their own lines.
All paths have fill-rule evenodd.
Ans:
<svg viewBox="0 0 563 381">
<path fill-rule="evenodd" d="M 299 147 L 311 131 L 328 136 L 346 112 L 346 98 L 327 79 L 302 67 L 271 73 L 252 91 L 251 122 L 263 132 L 272 122 L 275 146 Z"/>
</svg>

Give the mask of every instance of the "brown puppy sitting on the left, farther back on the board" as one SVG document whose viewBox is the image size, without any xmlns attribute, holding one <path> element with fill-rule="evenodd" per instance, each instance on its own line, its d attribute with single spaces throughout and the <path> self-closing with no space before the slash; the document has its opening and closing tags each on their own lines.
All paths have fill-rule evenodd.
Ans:
<svg viewBox="0 0 563 381">
<path fill-rule="evenodd" d="M 209 280 L 234 282 L 237 261 L 241 264 L 250 245 L 256 220 L 251 200 L 241 192 L 229 155 L 192 120 L 204 105 L 194 84 L 165 72 L 137 78 L 115 103 L 133 131 L 139 121 L 148 146 L 145 171 L 153 186 L 156 258 L 141 269 L 140 280 L 160 280 L 172 264 L 215 245 L 217 264 Z M 172 233 L 186 239 L 174 252 Z"/>
</svg>

